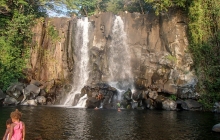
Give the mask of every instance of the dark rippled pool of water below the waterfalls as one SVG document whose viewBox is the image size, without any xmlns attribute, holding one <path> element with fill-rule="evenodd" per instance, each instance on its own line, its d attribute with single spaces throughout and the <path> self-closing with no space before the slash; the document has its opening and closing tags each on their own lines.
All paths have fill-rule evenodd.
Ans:
<svg viewBox="0 0 220 140">
<path fill-rule="evenodd" d="M 211 128 L 220 115 L 188 111 L 93 110 L 64 107 L 17 107 L 27 140 L 217 140 Z M 0 136 L 15 107 L 0 108 Z"/>
</svg>

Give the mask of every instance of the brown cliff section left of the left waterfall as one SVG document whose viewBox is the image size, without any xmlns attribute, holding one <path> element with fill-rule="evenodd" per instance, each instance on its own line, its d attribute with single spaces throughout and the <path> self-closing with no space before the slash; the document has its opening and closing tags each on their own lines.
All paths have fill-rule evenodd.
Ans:
<svg viewBox="0 0 220 140">
<path fill-rule="evenodd" d="M 39 19 L 32 30 L 31 68 L 27 74 L 30 79 L 42 81 L 47 90 L 51 90 L 64 80 L 69 81 L 68 74 L 71 74 L 71 68 L 67 67 L 68 61 L 65 59 L 68 55 L 65 50 L 69 20 L 69 18 Z M 49 35 L 50 27 L 57 31 L 58 38 L 53 39 Z"/>
</svg>

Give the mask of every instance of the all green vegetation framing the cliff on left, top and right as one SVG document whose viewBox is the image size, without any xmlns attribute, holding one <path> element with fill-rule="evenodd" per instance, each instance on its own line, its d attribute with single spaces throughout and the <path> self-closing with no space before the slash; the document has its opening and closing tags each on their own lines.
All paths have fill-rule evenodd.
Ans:
<svg viewBox="0 0 220 140">
<path fill-rule="evenodd" d="M 56 6 L 66 7 L 68 15 L 90 16 L 99 12 L 121 11 L 157 15 L 170 8 L 181 9 L 188 16 L 189 51 L 199 78 L 198 92 L 205 109 L 220 101 L 220 1 L 219 0 L 1 0 L 0 1 L 0 88 L 18 81 L 29 59 L 31 28 L 45 9 L 62 13 Z M 58 31 L 48 25 L 52 41 L 59 40 Z M 167 59 L 176 61 L 173 56 Z"/>
</svg>

